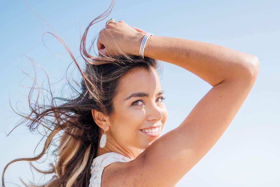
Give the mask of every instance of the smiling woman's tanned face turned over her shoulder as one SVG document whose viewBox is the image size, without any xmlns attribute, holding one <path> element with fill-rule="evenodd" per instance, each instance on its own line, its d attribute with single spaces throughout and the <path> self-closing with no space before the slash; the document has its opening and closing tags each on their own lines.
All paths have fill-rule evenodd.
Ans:
<svg viewBox="0 0 280 187">
<path fill-rule="evenodd" d="M 161 91 L 160 78 L 154 68 L 134 68 L 121 78 L 118 94 L 113 101 L 115 110 L 110 117 L 109 126 L 111 135 L 122 148 L 142 152 L 159 138 L 149 136 L 140 129 L 157 125 L 163 128 L 167 120 L 167 110 Z M 148 96 L 129 97 L 137 92 L 146 93 Z"/>
</svg>

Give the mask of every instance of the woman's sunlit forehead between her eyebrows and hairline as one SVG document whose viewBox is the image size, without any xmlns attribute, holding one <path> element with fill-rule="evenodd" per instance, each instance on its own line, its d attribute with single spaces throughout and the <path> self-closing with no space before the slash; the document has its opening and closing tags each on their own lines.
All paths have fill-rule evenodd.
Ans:
<svg viewBox="0 0 280 187">
<path fill-rule="evenodd" d="M 160 78 L 155 68 L 134 68 L 120 79 L 118 97 L 127 97 L 140 91 L 157 93 L 161 90 Z"/>
</svg>

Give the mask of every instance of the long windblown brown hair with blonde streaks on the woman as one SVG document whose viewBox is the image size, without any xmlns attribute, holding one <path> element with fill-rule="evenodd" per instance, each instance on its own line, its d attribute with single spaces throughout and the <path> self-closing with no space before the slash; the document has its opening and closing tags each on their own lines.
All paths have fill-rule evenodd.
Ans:
<svg viewBox="0 0 280 187">
<path fill-rule="evenodd" d="M 114 0 L 110 7 L 113 8 L 113 5 Z M 61 98 L 54 97 L 49 87 L 49 103 L 45 103 L 44 99 L 43 104 L 40 104 L 38 102 L 39 94 L 35 103 L 31 103 L 33 91 L 37 84 L 36 79 L 34 79 L 34 84 L 28 96 L 29 108 L 31 111 L 27 114 L 21 114 L 14 109 L 13 111 L 23 119 L 16 127 L 20 124 L 27 123 L 31 132 L 39 127 L 43 127 L 46 130 L 44 148 L 41 153 L 35 157 L 19 158 L 10 161 L 3 169 L 3 187 L 5 186 L 4 174 L 7 167 L 17 161 L 29 161 L 30 165 L 41 174 L 54 174 L 49 181 L 41 185 L 36 185 L 35 183 L 27 184 L 20 178 L 25 186 L 88 186 L 91 176 L 92 160 L 96 157 L 97 146 L 100 139 L 100 128 L 93 120 L 91 110 L 95 109 L 104 113 L 106 116 L 111 115 L 114 110 L 118 110 L 113 107 L 113 99 L 118 93 L 120 78 L 130 70 L 136 67 L 146 68 L 147 70 L 153 67 L 158 72 L 162 70 L 161 63 L 158 63 L 156 59 L 148 57 L 141 59 L 138 56 L 128 56 L 125 54 L 122 56 L 101 57 L 89 54 L 85 46 L 88 29 L 94 23 L 107 18 L 111 12 L 111 10 L 108 10 L 109 8 L 90 22 L 81 39 L 80 53 L 85 60 L 84 71 L 80 65 L 78 65 L 74 55 L 64 41 L 52 29 L 54 33 L 50 34 L 53 34 L 53 36 L 64 45 L 78 67 L 79 72 L 81 72 L 81 90 L 74 90 L 76 92 L 74 97 Z M 100 20 L 96 21 L 98 19 Z M 95 40 L 96 38 L 94 38 L 92 44 Z M 49 82 L 48 85 L 50 85 Z M 58 105 L 56 102 L 57 100 L 62 103 Z M 10 131 L 10 133 L 12 131 Z M 59 134 L 59 132 L 62 133 Z M 57 138 L 59 138 L 59 144 L 52 152 L 52 155 L 55 155 L 55 164 L 50 163 L 51 168 L 47 171 L 36 168 L 31 162 L 39 160 L 44 154 L 48 153 L 50 145 L 55 145 L 54 142 Z"/>
</svg>

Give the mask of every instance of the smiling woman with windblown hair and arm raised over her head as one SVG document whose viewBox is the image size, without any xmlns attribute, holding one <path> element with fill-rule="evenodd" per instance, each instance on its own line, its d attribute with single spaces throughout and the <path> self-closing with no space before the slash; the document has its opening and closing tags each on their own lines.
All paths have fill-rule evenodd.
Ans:
<svg viewBox="0 0 280 187">
<path fill-rule="evenodd" d="M 87 62 L 84 71 L 72 56 L 83 76 L 81 93 L 60 98 L 65 103 L 58 106 L 31 105 L 31 114 L 24 116 L 30 129 L 41 124 L 50 134 L 40 155 L 6 165 L 2 185 L 8 165 L 40 159 L 60 131 L 55 165 L 48 171 L 36 168 L 55 174 L 42 186 L 176 185 L 233 120 L 255 83 L 258 58 L 215 44 L 149 35 L 111 19 L 99 33 L 95 57 L 85 50 L 88 28 L 80 48 Z M 213 86 L 179 126 L 162 136 L 167 109 L 157 60 Z"/>
</svg>

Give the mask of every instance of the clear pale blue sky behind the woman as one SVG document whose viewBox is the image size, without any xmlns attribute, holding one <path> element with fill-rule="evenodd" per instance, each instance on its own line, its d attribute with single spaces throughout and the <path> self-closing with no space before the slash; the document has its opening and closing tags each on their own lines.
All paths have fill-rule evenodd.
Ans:
<svg viewBox="0 0 280 187">
<path fill-rule="evenodd" d="M 83 33 L 90 21 L 108 8 L 111 0 L 29 0 L 27 3 L 50 23 L 78 57 L 80 32 Z M 280 114 L 279 9 L 279 1 L 117 0 L 109 17 L 91 27 L 88 38 L 94 37 L 109 18 L 114 18 L 155 35 L 227 46 L 253 54 L 260 60 L 258 79 L 236 117 L 219 141 L 176 187 L 280 186 L 280 122 L 277 117 Z M 19 157 L 33 157 L 41 137 L 38 133 L 31 134 L 24 125 L 6 136 L 20 120 L 10 108 L 9 95 L 14 108 L 17 105 L 21 111 L 28 111 L 29 89 L 22 86 L 31 86 L 32 81 L 22 70 L 32 76 L 34 72 L 31 63 L 22 54 L 41 65 L 57 94 L 66 83 L 66 68 L 72 60 L 60 42 L 50 34 L 44 35 L 44 46 L 42 34 L 51 30 L 24 1 L 1 1 L 0 22 L 2 173 L 9 161 Z M 73 64 L 69 69 L 69 76 L 77 77 L 78 72 Z M 37 71 L 39 85 L 46 85 L 46 77 L 43 82 L 43 71 L 38 67 Z M 211 86 L 191 72 L 169 63 L 164 63 L 161 77 L 168 110 L 164 134 L 181 124 Z M 68 92 L 64 89 L 62 95 Z M 35 155 L 41 149 L 42 144 L 36 149 Z M 53 157 L 44 156 L 41 162 L 46 158 L 43 164 L 34 165 L 46 169 Z M 33 181 L 28 162 L 10 165 L 5 176 L 6 182 L 18 185 L 22 185 L 18 177 L 24 181 Z M 38 182 L 40 175 L 34 172 L 34 177 L 35 182 Z M 6 186 L 15 185 L 6 183 Z"/>
</svg>

